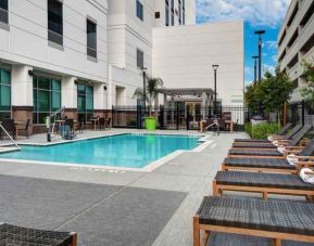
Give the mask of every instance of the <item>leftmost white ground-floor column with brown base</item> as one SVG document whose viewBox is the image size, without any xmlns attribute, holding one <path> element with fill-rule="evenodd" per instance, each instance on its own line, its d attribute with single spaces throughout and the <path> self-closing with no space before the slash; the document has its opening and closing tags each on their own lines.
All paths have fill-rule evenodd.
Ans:
<svg viewBox="0 0 314 246">
<path fill-rule="evenodd" d="M 32 126 L 33 126 L 33 111 L 34 111 L 32 73 L 33 73 L 32 66 L 27 65 L 12 66 L 12 82 L 11 82 L 12 117 L 14 118 L 15 121 L 22 121 L 25 124 L 28 119 L 30 119 L 30 126 L 28 128 L 29 134 L 33 133 Z"/>
</svg>

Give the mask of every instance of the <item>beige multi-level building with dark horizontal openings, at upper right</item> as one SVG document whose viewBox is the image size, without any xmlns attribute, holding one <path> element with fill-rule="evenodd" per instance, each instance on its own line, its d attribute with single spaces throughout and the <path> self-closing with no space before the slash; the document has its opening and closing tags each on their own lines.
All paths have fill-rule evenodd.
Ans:
<svg viewBox="0 0 314 246">
<path fill-rule="evenodd" d="M 291 103 L 300 102 L 306 82 L 302 61 L 314 57 L 314 1 L 292 0 L 278 35 L 278 61 L 296 85 Z M 313 60 L 312 60 L 313 61 Z"/>
</svg>

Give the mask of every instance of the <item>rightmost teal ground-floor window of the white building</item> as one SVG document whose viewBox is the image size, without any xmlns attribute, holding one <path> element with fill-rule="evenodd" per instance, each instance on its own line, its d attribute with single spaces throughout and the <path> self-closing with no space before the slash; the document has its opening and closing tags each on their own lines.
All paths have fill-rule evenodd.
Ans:
<svg viewBox="0 0 314 246">
<path fill-rule="evenodd" d="M 77 112 L 79 121 L 88 121 L 93 117 L 93 87 L 84 82 L 77 83 Z"/>
</svg>

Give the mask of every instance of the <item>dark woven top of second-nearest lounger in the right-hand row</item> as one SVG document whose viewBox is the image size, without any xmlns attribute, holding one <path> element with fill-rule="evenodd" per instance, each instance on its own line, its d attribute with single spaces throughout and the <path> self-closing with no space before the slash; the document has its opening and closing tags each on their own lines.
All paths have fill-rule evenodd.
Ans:
<svg viewBox="0 0 314 246">
<path fill-rule="evenodd" d="M 297 174 L 260 173 L 248 171 L 218 171 L 215 177 L 217 184 L 278 187 L 314 191 L 314 185 L 305 183 Z"/>
</svg>

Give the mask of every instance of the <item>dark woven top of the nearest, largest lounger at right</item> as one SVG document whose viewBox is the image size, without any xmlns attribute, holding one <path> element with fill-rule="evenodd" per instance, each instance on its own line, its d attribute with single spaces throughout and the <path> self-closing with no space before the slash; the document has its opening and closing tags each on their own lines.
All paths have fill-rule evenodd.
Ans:
<svg viewBox="0 0 314 246">
<path fill-rule="evenodd" d="M 314 204 L 205 196 L 197 212 L 201 224 L 314 235 Z"/>
</svg>

